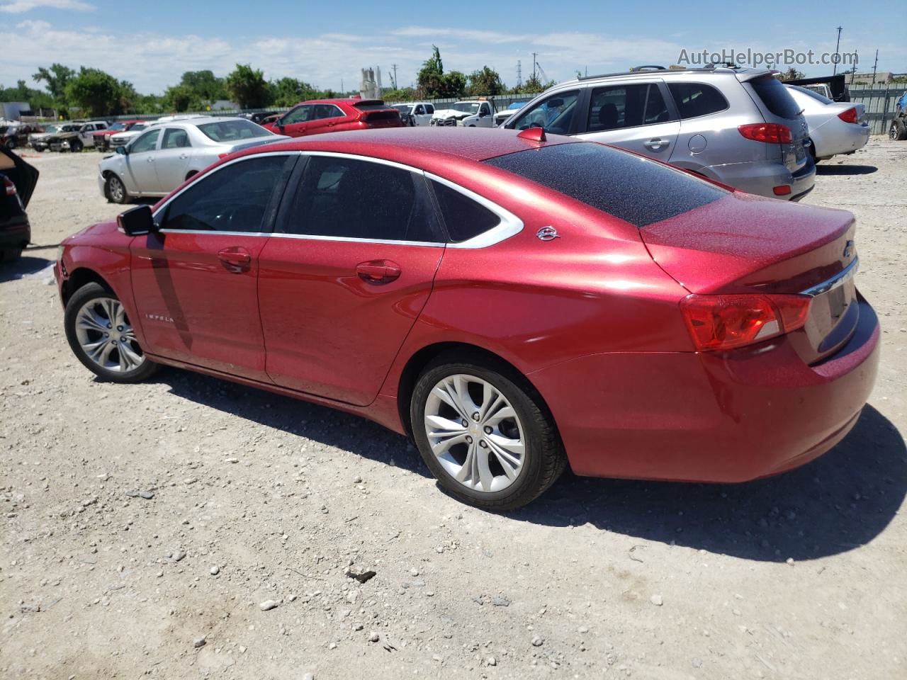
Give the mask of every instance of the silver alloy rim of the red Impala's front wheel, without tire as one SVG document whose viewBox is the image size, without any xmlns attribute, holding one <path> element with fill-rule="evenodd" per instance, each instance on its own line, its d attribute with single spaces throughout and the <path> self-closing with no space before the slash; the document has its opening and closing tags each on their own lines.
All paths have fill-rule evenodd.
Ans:
<svg viewBox="0 0 907 680">
<path fill-rule="evenodd" d="M 108 371 L 128 373 L 145 363 L 126 310 L 116 298 L 86 302 L 75 316 L 75 336 L 85 355 Z"/>
</svg>

